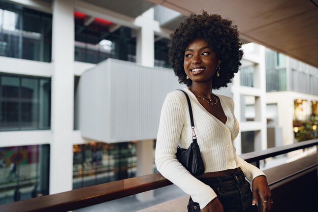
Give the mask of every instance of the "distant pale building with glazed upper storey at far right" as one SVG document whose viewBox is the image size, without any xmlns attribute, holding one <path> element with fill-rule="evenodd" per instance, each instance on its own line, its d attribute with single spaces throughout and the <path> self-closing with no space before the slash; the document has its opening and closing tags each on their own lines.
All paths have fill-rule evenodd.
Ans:
<svg viewBox="0 0 318 212">
<path fill-rule="evenodd" d="M 317 138 L 318 69 L 266 50 L 268 122 L 282 129 L 276 145 Z"/>
</svg>

